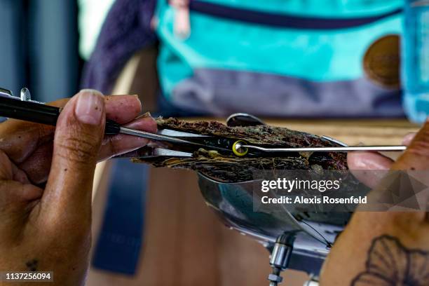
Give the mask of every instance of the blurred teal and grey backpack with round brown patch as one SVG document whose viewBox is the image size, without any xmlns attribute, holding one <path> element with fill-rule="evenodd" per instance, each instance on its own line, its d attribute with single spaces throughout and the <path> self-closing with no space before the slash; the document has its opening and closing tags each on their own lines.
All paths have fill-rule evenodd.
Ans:
<svg viewBox="0 0 429 286">
<path fill-rule="evenodd" d="M 158 0 L 158 76 L 215 116 L 403 116 L 401 0 Z"/>
</svg>

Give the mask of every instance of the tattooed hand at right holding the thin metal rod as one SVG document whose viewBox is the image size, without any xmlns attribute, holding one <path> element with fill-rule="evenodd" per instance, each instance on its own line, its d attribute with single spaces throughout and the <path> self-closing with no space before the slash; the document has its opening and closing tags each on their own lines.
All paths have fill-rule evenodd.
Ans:
<svg viewBox="0 0 429 286">
<path fill-rule="evenodd" d="M 416 170 L 429 177 L 429 121 L 404 139 L 407 150 L 397 159 L 376 153 L 350 153 L 353 170 Z M 352 171 L 353 172 L 353 171 Z M 355 172 L 375 188 L 382 172 Z M 424 205 L 424 202 L 421 202 Z M 336 239 L 320 275 L 320 285 L 429 285 L 428 212 L 357 211 Z"/>
</svg>

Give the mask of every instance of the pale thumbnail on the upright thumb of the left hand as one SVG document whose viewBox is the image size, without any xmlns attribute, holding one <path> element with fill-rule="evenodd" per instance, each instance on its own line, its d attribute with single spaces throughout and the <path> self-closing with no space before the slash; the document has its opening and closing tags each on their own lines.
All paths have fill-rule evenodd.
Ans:
<svg viewBox="0 0 429 286">
<path fill-rule="evenodd" d="M 74 112 L 81 123 L 98 125 L 102 121 L 104 100 L 97 90 L 84 89 L 79 92 Z"/>
</svg>

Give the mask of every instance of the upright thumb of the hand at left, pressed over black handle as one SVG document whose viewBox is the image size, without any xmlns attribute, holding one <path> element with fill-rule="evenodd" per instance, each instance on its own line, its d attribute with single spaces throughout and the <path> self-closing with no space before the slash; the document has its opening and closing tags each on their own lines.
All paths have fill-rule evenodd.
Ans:
<svg viewBox="0 0 429 286">
<path fill-rule="evenodd" d="M 105 121 L 104 99 L 97 90 L 81 90 L 58 117 L 52 165 L 41 202 L 41 212 L 55 222 L 73 226 L 76 219 L 90 217 L 94 170 Z"/>
</svg>

